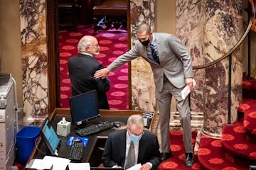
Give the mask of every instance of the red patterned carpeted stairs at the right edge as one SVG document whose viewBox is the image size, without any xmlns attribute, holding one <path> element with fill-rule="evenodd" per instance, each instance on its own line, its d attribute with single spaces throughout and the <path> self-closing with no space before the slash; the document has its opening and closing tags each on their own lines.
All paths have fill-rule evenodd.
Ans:
<svg viewBox="0 0 256 170">
<path fill-rule="evenodd" d="M 238 121 L 223 125 L 222 137 L 216 140 L 201 136 L 198 162 L 201 169 L 243 170 L 256 166 L 256 81 L 242 81 L 242 103 Z"/>
</svg>

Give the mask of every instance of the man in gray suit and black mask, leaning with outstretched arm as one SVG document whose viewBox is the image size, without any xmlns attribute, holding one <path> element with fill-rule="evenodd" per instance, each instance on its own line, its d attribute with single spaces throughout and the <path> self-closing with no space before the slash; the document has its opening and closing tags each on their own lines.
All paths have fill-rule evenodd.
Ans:
<svg viewBox="0 0 256 170">
<path fill-rule="evenodd" d="M 122 64 L 137 57 L 149 62 L 154 73 L 156 100 L 159 105 L 161 130 L 161 161 L 172 156 L 169 142 L 171 97 L 176 98 L 183 128 L 183 144 L 186 151 L 185 164 L 193 166 L 191 118 L 188 98 L 181 98 L 181 90 L 187 85 L 193 89 L 191 56 L 181 40 L 167 33 L 153 33 L 143 23 L 137 27 L 137 41 L 129 52 L 119 56 L 107 68 L 95 73 L 96 78 L 105 78 Z"/>
</svg>

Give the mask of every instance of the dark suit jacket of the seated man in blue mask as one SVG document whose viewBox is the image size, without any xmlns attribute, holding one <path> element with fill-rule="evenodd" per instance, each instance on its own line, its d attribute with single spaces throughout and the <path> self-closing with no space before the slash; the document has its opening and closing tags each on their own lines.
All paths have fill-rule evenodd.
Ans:
<svg viewBox="0 0 256 170">
<path fill-rule="evenodd" d="M 110 133 L 105 143 L 102 162 L 106 167 L 114 164 L 124 167 L 127 130 L 117 130 Z M 138 164 L 151 162 L 152 169 L 157 169 L 160 164 L 159 142 L 154 133 L 144 130 L 144 135 L 139 141 Z"/>
</svg>

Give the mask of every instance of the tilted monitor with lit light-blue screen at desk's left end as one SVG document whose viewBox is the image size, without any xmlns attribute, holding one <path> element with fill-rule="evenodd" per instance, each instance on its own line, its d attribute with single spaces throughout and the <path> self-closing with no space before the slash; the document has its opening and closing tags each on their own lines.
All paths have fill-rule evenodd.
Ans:
<svg viewBox="0 0 256 170">
<path fill-rule="evenodd" d="M 60 137 L 58 137 L 53 126 L 50 124 L 50 120 L 46 118 L 41 128 L 41 137 L 46 143 L 50 154 L 58 155 L 58 147 L 60 146 Z"/>
</svg>

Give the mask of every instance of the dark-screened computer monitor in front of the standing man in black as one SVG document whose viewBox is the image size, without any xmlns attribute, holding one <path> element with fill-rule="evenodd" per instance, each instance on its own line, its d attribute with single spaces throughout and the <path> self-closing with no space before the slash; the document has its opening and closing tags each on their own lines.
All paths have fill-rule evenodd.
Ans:
<svg viewBox="0 0 256 170">
<path fill-rule="evenodd" d="M 99 117 L 97 91 L 70 97 L 70 113 L 73 125 L 82 125 L 90 119 Z"/>
</svg>

